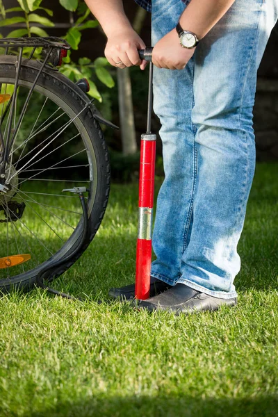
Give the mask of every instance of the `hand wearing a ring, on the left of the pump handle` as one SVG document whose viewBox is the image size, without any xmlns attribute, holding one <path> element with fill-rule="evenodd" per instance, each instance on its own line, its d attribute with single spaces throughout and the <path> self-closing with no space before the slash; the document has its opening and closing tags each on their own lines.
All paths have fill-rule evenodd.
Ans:
<svg viewBox="0 0 278 417">
<path fill-rule="evenodd" d="M 141 70 L 145 70 L 147 62 L 140 60 L 138 54 L 138 49 L 145 49 L 145 47 L 145 43 L 132 28 L 124 29 L 108 37 L 104 55 L 114 67 L 125 68 L 140 65 Z"/>
</svg>

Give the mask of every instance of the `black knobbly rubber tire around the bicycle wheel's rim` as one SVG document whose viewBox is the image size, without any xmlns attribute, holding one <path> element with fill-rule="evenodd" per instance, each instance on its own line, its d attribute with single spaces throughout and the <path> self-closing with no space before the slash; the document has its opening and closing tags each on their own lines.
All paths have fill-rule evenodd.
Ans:
<svg viewBox="0 0 278 417">
<path fill-rule="evenodd" d="M 0 58 L 0 84 L 15 82 L 17 57 L 15 56 L 1 56 Z M 35 77 L 40 70 L 40 63 L 35 60 L 22 60 L 22 66 L 19 74 L 19 88 L 30 88 L 35 80 Z M 74 125 L 79 131 L 83 142 L 88 146 L 87 154 L 91 160 L 94 161 L 92 170 L 94 178 L 90 181 L 90 197 L 88 199 L 88 236 L 85 243 L 79 252 L 62 267 L 52 272 L 53 277 L 58 277 L 83 254 L 88 247 L 92 238 L 94 238 L 101 220 L 104 217 L 106 206 L 108 203 L 108 195 L 110 190 L 110 165 L 108 159 L 108 150 L 104 135 L 101 131 L 99 123 L 94 118 L 96 111 L 95 106 L 90 104 L 87 95 L 83 93 L 77 85 L 72 83 L 70 79 L 60 74 L 60 72 L 52 70 L 50 67 L 44 67 L 42 74 L 35 85 L 35 91 L 43 94 L 45 97 L 54 101 L 57 106 L 60 106 L 65 113 L 76 119 Z M 88 106 L 85 108 L 85 106 Z M 85 108 L 85 111 L 83 109 Z M 78 116 L 77 116 L 78 115 Z M 89 149 L 90 148 L 90 149 Z M 90 155 L 89 155 L 90 154 Z M 91 167 L 90 167 L 91 169 Z M 91 175 L 91 172 L 90 172 Z M 90 179 L 91 180 L 91 179 Z M 74 252 L 74 247 L 77 247 L 82 235 L 82 220 L 79 221 L 76 229 L 67 240 L 65 245 L 49 259 L 45 260 L 35 268 L 22 272 L 13 277 L 2 277 L 0 279 L 0 290 L 9 291 L 11 287 L 31 289 L 35 283 L 35 279 L 47 265 L 51 267 L 52 263 L 62 260 L 71 252 Z"/>
</svg>

